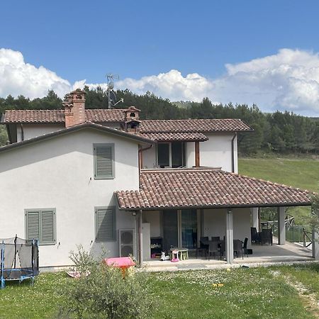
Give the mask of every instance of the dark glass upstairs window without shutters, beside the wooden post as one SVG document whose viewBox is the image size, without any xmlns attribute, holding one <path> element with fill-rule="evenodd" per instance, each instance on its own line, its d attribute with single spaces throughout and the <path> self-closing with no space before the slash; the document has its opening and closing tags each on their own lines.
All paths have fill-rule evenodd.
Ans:
<svg viewBox="0 0 319 319">
<path fill-rule="evenodd" d="M 186 150 L 184 142 L 158 143 L 157 164 L 159 167 L 184 167 Z"/>
</svg>

